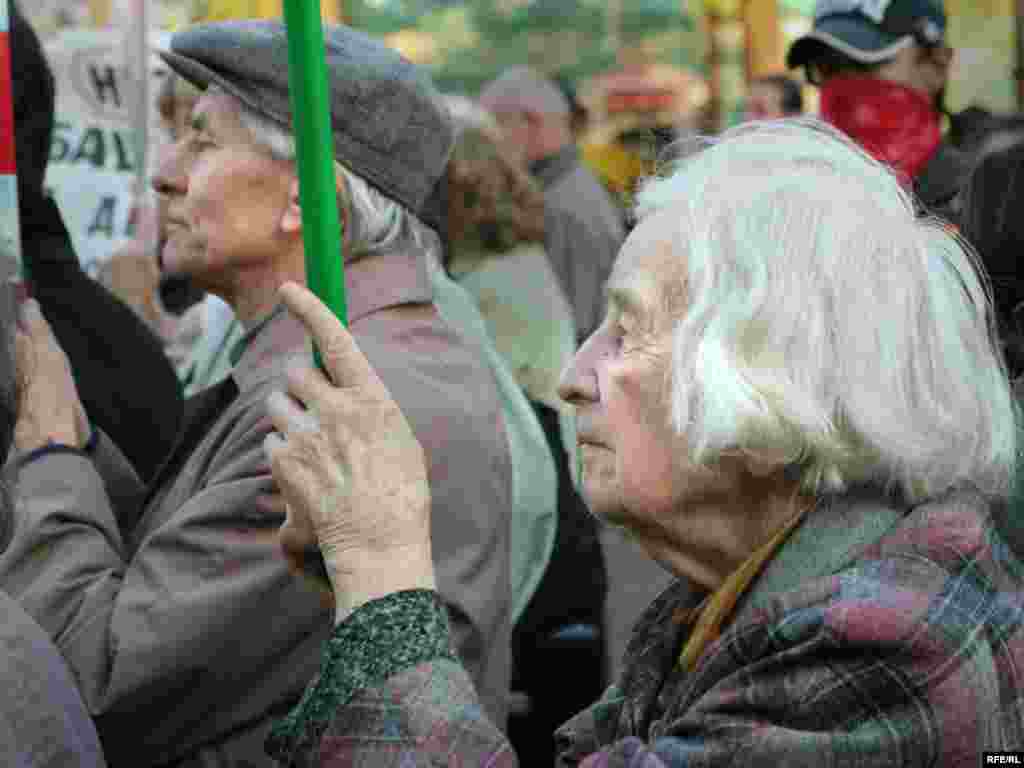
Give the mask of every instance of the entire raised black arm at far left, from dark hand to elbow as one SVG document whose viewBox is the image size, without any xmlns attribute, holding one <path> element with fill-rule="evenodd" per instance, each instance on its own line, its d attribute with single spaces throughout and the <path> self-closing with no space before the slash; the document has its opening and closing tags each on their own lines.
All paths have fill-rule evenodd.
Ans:
<svg viewBox="0 0 1024 768">
<path fill-rule="evenodd" d="M 68 353 L 91 423 L 148 479 L 177 437 L 181 388 L 157 334 L 82 268 L 46 195 L 55 83 L 36 32 L 8 7 L 23 276 Z"/>
</svg>

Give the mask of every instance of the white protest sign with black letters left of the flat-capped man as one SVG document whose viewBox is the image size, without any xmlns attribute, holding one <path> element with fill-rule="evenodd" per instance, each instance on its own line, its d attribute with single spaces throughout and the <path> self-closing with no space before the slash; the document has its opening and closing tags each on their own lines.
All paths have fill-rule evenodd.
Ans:
<svg viewBox="0 0 1024 768">
<path fill-rule="evenodd" d="M 145 189 L 135 147 L 141 90 L 129 74 L 125 33 L 69 30 L 46 45 L 56 79 L 56 124 L 46 172 L 82 265 L 99 264 L 135 229 L 136 207 Z M 154 53 L 154 78 L 166 65 Z M 150 88 L 151 93 L 157 89 Z"/>
</svg>

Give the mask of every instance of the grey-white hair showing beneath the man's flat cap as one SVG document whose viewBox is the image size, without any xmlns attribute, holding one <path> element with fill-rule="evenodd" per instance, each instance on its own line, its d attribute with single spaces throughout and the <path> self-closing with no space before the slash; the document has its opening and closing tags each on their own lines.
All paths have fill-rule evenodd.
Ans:
<svg viewBox="0 0 1024 768">
<path fill-rule="evenodd" d="M 240 119 L 253 141 L 276 160 L 294 163 L 294 135 L 284 126 L 239 101 Z M 337 160 L 335 174 L 343 195 L 339 206 L 347 205 L 345 245 L 349 258 L 385 251 L 423 251 L 432 262 L 440 263 L 440 240 L 401 203 L 388 198 Z M 343 209 L 345 210 L 345 209 Z"/>
</svg>

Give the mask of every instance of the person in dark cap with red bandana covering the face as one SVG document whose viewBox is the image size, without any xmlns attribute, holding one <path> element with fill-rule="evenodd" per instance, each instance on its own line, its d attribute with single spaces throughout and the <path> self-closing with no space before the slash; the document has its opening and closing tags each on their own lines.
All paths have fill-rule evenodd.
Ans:
<svg viewBox="0 0 1024 768">
<path fill-rule="evenodd" d="M 821 89 L 821 117 L 912 184 L 951 219 L 969 171 L 942 136 L 953 51 L 938 0 L 818 0 L 814 27 L 790 48 Z"/>
</svg>

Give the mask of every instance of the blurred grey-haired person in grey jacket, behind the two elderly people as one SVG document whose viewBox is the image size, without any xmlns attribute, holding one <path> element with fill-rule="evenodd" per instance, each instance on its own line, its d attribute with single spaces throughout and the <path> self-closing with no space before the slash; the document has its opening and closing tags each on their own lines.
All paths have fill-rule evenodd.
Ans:
<svg viewBox="0 0 1024 768">
<path fill-rule="evenodd" d="M 580 162 L 569 104 L 548 78 L 526 67 L 487 83 L 479 102 L 540 180 L 546 204 L 545 248 L 572 306 L 579 337 L 600 323 L 602 289 L 626 230 L 608 191 Z"/>
</svg>

